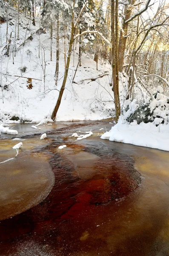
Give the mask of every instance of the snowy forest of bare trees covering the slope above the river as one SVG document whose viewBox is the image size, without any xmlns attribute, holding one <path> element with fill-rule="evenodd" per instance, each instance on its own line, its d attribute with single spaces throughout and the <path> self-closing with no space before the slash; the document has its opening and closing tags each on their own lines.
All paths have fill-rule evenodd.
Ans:
<svg viewBox="0 0 169 256">
<path fill-rule="evenodd" d="M 1 122 L 113 117 L 166 130 L 168 4 L 3 0 Z"/>
</svg>

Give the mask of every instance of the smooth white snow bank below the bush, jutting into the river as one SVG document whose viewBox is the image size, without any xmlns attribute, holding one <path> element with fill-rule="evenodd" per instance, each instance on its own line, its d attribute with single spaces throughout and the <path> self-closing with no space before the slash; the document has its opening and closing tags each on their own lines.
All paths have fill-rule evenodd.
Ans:
<svg viewBox="0 0 169 256">
<path fill-rule="evenodd" d="M 136 122 L 123 124 L 120 120 L 101 139 L 169 151 L 169 124 L 156 127 L 152 122 L 137 125 Z"/>
</svg>

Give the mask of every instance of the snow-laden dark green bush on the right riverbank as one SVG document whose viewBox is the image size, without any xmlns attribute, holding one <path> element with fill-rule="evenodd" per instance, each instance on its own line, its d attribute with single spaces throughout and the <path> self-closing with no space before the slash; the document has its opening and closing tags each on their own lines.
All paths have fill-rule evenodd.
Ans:
<svg viewBox="0 0 169 256">
<path fill-rule="evenodd" d="M 137 121 L 148 123 L 153 122 L 156 126 L 169 122 L 169 97 L 162 94 L 163 88 L 157 87 L 152 98 L 147 98 L 146 103 L 138 104 L 134 99 L 126 108 L 124 119 L 127 122 Z"/>
</svg>

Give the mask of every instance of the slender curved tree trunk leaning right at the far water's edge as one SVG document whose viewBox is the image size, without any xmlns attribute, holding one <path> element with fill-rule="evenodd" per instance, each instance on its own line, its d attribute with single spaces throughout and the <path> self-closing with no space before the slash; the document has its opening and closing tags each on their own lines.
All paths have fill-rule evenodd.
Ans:
<svg viewBox="0 0 169 256">
<path fill-rule="evenodd" d="M 56 106 L 55 106 L 54 111 L 51 116 L 52 120 L 54 120 L 56 118 L 56 114 L 57 114 L 57 111 L 60 106 L 63 92 L 65 90 L 66 80 L 67 80 L 68 71 L 69 71 L 70 57 L 71 57 L 71 52 L 72 52 L 73 39 L 74 39 L 74 5 L 73 5 L 73 9 L 72 9 L 72 30 L 71 30 L 71 37 L 70 37 L 70 41 L 69 41 L 69 51 L 68 51 L 68 58 L 67 58 L 67 62 L 66 62 L 66 70 L 65 70 L 65 74 L 64 74 L 64 78 L 63 78 L 63 84 L 60 89 L 59 97 L 57 99 Z"/>
</svg>

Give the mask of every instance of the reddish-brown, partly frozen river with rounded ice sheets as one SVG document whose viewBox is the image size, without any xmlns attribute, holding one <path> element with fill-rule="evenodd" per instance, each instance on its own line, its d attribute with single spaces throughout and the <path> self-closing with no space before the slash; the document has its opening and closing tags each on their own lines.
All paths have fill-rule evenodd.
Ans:
<svg viewBox="0 0 169 256">
<path fill-rule="evenodd" d="M 101 140 L 109 122 L 1 134 L 0 256 L 169 256 L 169 153 Z"/>
</svg>

